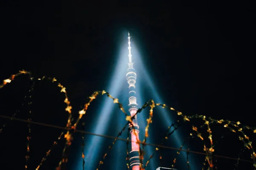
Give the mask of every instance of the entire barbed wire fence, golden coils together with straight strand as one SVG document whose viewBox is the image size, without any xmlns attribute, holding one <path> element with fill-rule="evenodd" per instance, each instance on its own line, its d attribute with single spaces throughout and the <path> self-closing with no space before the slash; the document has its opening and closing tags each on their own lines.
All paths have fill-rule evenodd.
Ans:
<svg viewBox="0 0 256 170">
<path fill-rule="evenodd" d="M 3 80 L 3 84 L 0 85 L 0 89 L 3 88 L 5 85 L 7 85 L 8 83 L 12 82 L 15 77 L 21 75 L 21 74 L 29 74 L 29 78 L 32 80 L 32 85 L 34 85 L 35 83 L 35 80 L 38 80 L 38 81 L 41 81 L 41 80 L 50 80 L 52 83 L 54 82 L 57 82 L 57 80 L 55 78 L 50 78 L 50 77 L 42 77 L 42 78 L 39 78 L 39 79 L 34 79 L 32 77 L 32 74 L 28 71 L 20 71 L 19 73 L 17 74 L 14 74 L 12 75 L 11 77 L 9 77 L 9 79 L 5 79 Z M 67 119 L 67 125 L 66 127 L 59 127 L 59 126 L 55 126 L 55 125 L 48 125 L 48 124 L 44 124 L 44 123 L 39 123 L 39 122 L 33 122 L 31 120 L 31 118 L 29 118 L 28 120 L 23 120 L 23 119 L 17 119 L 15 117 L 9 117 L 9 116 L 3 116 L 3 115 L 0 115 L 0 117 L 2 118 L 6 118 L 6 119 L 10 119 L 10 120 L 16 120 L 16 121 L 22 121 L 22 122 L 26 122 L 28 123 L 28 127 L 29 127 L 29 134 L 30 134 L 30 124 L 36 124 L 36 125 L 43 125 L 43 126 L 48 126 L 48 127 L 54 127 L 54 128 L 58 128 L 58 129 L 62 129 L 64 131 L 61 132 L 61 135 L 58 137 L 58 141 L 61 139 L 62 135 L 64 134 L 64 138 L 66 140 L 65 142 L 65 146 L 64 146 L 64 149 L 62 151 L 62 156 L 61 156 L 61 161 L 59 162 L 58 164 L 58 167 L 56 168 L 57 170 L 64 170 L 65 167 L 66 167 L 66 163 L 68 161 L 68 152 L 69 152 L 69 148 L 70 148 L 70 145 L 73 141 L 73 133 L 76 133 L 76 132 L 80 132 L 80 133 L 83 133 L 83 134 L 89 134 L 89 135 L 95 135 L 95 136 L 101 136 L 101 137 L 105 137 L 105 138 L 111 138 L 111 139 L 114 139 L 112 144 L 108 147 L 108 151 L 107 153 L 104 154 L 104 156 L 102 157 L 102 160 L 99 161 L 99 165 L 97 167 L 97 170 L 99 170 L 99 168 L 101 167 L 101 164 L 103 164 L 103 161 L 106 159 L 106 156 L 108 155 L 108 152 L 112 149 L 113 145 L 115 144 L 116 140 L 122 140 L 122 141 L 126 141 L 126 150 L 127 150 L 127 156 L 126 156 L 126 159 L 127 159 L 127 168 L 129 169 L 129 163 L 128 163 L 128 159 L 129 159 L 129 155 L 128 155 L 128 144 L 131 142 L 131 140 L 129 140 L 128 138 L 127 139 L 122 139 L 122 138 L 119 138 L 119 136 L 122 135 L 122 132 L 126 129 L 127 125 L 129 125 L 129 128 L 131 128 L 131 130 L 133 130 L 133 132 L 135 133 L 135 135 L 137 136 L 137 131 L 135 130 L 134 128 L 134 125 L 133 125 L 133 119 L 134 119 L 134 116 L 136 116 L 137 114 L 141 113 L 145 108 L 150 108 L 150 111 L 149 111 L 149 115 L 148 115 L 148 119 L 146 119 L 146 122 L 147 122 L 147 125 L 145 127 L 145 136 L 144 136 L 144 139 L 143 141 L 141 142 L 138 137 L 137 137 L 137 143 L 141 144 L 142 147 L 140 147 L 139 149 L 139 158 L 140 158 L 140 162 L 142 163 L 143 162 L 143 159 L 144 159 L 144 155 L 145 155 L 145 151 L 144 151 L 144 147 L 145 145 L 151 145 L 151 146 L 154 146 L 155 147 L 155 150 L 154 152 L 149 156 L 149 159 L 146 161 L 146 164 L 145 166 L 143 167 L 142 164 L 140 166 L 140 170 L 144 170 L 149 161 L 154 157 L 155 153 L 159 150 L 159 148 L 165 148 L 165 149 L 172 149 L 172 150 L 177 150 L 177 154 L 180 153 L 180 151 L 183 151 L 183 152 L 186 152 L 186 161 L 187 161 L 187 167 L 188 169 L 190 168 L 189 166 L 189 153 L 196 153 L 196 154 L 201 154 L 201 155 L 205 155 L 205 160 L 208 164 L 208 169 L 209 170 L 213 170 L 213 168 L 217 168 L 217 166 L 214 166 L 213 164 L 213 158 L 214 157 L 220 157 L 220 158 L 226 158 L 226 159 L 234 159 L 234 160 L 237 160 L 237 163 L 236 163 L 236 166 L 238 166 L 238 162 L 239 161 L 246 161 L 246 162 L 250 162 L 253 164 L 254 168 L 256 168 L 256 153 L 254 152 L 253 150 L 253 147 L 252 147 L 252 141 L 250 140 L 249 136 L 244 132 L 244 130 L 251 130 L 253 133 L 256 133 L 256 128 L 255 127 L 249 127 L 249 126 L 246 126 L 246 125 L 242 125 L 240 122 L 233 122 L 233 121 L 229 121 L 229 120 L 215 120 L 215 119 L 212 119 L 210 117 L 206 117 L 204 115 L 193 115 L 193 116 L 186 116 L 184 115 L 182 112 L 180 111 L 176 111 L 174 108 L 172 107 L 168 107 L 166 106 L 166 104 L 160 104 L 160 103 L 155 103 L 154 100 L 149 100 L 148 102 L 146 102 L 142 108 L 139 108 L 137 113 L 135 113 L 134 116 L 129 116 L 126 112 L 125 112 L 125 109 L 123 108 L 122 104 L 119 102 L 119 99 L 117 98 L 114 98 L 113 96 L 111 96 L 108 92 L 106 91 L 95 91 L 87 100 L 87 102 L 84 104 L 84 107 L 82 110 L 79 111 L 79 116 L 78 116 L 78 119 L 76 119 L 75 123 L 72 123 L 72 119 L 73 119 L 73 116 L 72 116 L 72 106 L 70 105 L 70 101 L 67 97 L 67 91 L 66 91 L 66 88 L 61 85 L 59 82 L 57 83 L 58 87 L 61 89 L 60 92 L 61 93 L 64 93 L 64 96 L 65 96 L 65 99 L 64 99 L 64 103 L 66 103 L 67 107 L 65 108 L 65 111 L 67 111 L 68 113 L 68 119 Z M 32 86 L 32 88 L 34 88 Z M 86 132 L 86 131 L 83 131 L 83 130 L 78 130 L 77 129 L 77 126 L 81 120 L 81 118 L 83 117 L 83 115 L 87 112 L 87 109 L 90 105 L 91 102 L 93 102 L 93 100 L 96 99 L 96 97 L 101 94 L 101 95 L 105 95 L 107 96 L 108 98 L 111 98 L 113 99 L 113 103 L 114 104 L 117 104 L 119 106 L 119 109 L 124 113 L 125 115 L 125 120 L 127 121 L 126 125 L 122 128 L 122 130 L 118 133 L 118 135 L 116 137 L 113 137 L 113 136 L 106 136 L 106 135 L 99 135 L 99 134 L 95 134 L 95 133 L 90 133 L 90 132 Z M 31 95 L 29 95 L 31 96 Z M 31 97 L 30 97 L 31 98 Z M 32 104 L 32 102 L 29 102 L 29 107 L 30 105 Z M 153 110 L 155 107 L 161 107 L 161 108 L 169 108 L 170 111 L 174 111 L 177 115 L 178 115 L 178 120 L 177 122 L 175 122 L 175 124 L 180 124 L 180 122 L 189 122 L 192 124 L 192 120 L 194 119 L 200 119 L 202 120 L 204 123 L 203 125 L 197 127 L 196 125 L 191 125 L 191 130 L 193 131 L 192 133 L 189 134 L 189 138 L 188 140 L 191 140 L 191 139 L 195 139 L 194 137 L 198 137 L 198 139 L 201 139 L 201 141 L 203 142 L 203 150 L 204 150 L 204 153 L 202 152 L 197 152 L 197 151 L 192 151 L 190 150 L 189 148 L 187 150 L 184 150 L 183 149 L 183 144 L 185 142 L 183 142 L 183 144 L 180 146 L 180 148 L 174 148 L 174 147 L 167 147 L 167 146 L 164 146 L 163 145 L 163 141 L 164 140 L 167 140 L 169 138 L 170 135 L 172 135 L 175 130 L 178 129 L 178 126 L 175 127 L 174 130 L 172 130 L 172 132 L 169 132 L 169 130 L 171 130 L 171 127 L 174 127 L 175 124 L 172 124 L 171 126 L 168 127 L 168 129 L 166 130 L 166 136 L 164 136 L 164 138 L 162 139 L 162 142 L 161 144 L 149 144 L 147 143 L 147 138 L 148 138 L 148 134 L 149 134 L 149 126 L 151 125 L 151 123 L 153 122 Z M 29 109 L 29 117 L 31 116 L 31 109 Z M 84 125 L 84 123 L 83 123 Z M 228 156 L 220 156 L 220 155 L 215 155 L 214 152 L 215 152 L 215 145 L 214 145 L 214 142 L 213 142 L 213 137 L 212 137 L 212 129 L 210 126 L 212 125 L 222 125 L 222 127 L 230 130 L 232 133 L 237 133 L 238 135 L 238 139 L 240 141 L 242 141 L 244 143 L 244 147 L 250 151 L 250 158 L 252 159 L 252 161 L 249 161 L 249 160 L 244 160 L 244 159 L 241 159 L 240 158 L 240 155 L 239 154 L 239 158 L 231 158 L 231 157 L 228 157 Z M 5 126 L 6 127 L 6 126 Z M 207 141 L 202 133 L 202 130 L 206 128 L 206 132 L 208 133 L 207 135 L 207 139 L 209 140 L 209 144 L 207 144 Z M 1 128 L 2 129 L 2 128 Z M 129 130 L 128 130 L 129 131 Z M 128 134 L 129 135 L 129 134 Z M 28 138 L 27 138 L 27 148 L 29 150 L 29 139 L 30 139 L 30 135 L 28 135 Z M 82 138 L 82 142 L 84 143 L 84 137 Z M 55 147 L 56 145 L 58 144 L 58 142 L 54 142 L 54 144 L 52 145 L 52 147 Z M 52 150 L 52 147 L 50 150 L 47 151 L 47 154 L 46 156 L 42 159 L 41 163 L 38 165 L 38 167 L 36 168 L 36 170 L 39 170 L 40 166 L 43 164 L 43 162 L 46 160 L 46 157 L 49 155 L 50 151 Z M 82 149 L 83 149 L 83 145 L 82 145 Z M 243 151 L 244 152 L 244 151 Z M 29 152 L 27 153 L 29 154 Z M 28 158 L 29 158 L 29 155 L 26 155 L 26 168 L 27 168 L 27 162 L 28 162 Z M 82 158 L 83 158 L 83 168 L 84 168 L 84 153 L 82 152 Z M 160 153 L 160 158 L 159 159 L 162 159 L 162 154 Z M 175 158 L 173 160 L 173 165 L 172 167 L 175 166 L 175 163 L 177 161 L 177 158 Z M 204 163 L 204 165 L 206 165 Z M 204 167 L 203 167 L 204 169 Z"/>
</svg>

